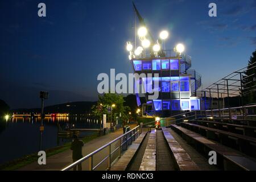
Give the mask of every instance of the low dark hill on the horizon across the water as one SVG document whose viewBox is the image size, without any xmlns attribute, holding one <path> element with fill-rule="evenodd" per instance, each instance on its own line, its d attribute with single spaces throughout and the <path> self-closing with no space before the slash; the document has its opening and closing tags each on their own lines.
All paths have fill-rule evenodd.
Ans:
<svg viewBox="0 0 256 182">
<path fill-rule="evenodd" d="M 89 113 L 90 108 L 97 102 L 82 101 L 82 102 L 67 102 L 44 107 L 44 113 L 70 113 L 70 114 L 85 114 Z M 40 108 L 34 109 L 13 109 L 14 113 L 40 113 Z"/>
</svg>

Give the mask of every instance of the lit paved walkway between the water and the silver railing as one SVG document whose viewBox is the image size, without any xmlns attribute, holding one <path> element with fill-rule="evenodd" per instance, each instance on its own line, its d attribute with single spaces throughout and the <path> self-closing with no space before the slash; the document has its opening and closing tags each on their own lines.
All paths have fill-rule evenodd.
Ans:
<svg viewBox="0 0 256 182">
<path fill-rule="evenodd" d="M 137 125 L 130 125 L 131 129 L 136 127 Z M 86 156 L 90 154 L 91 152 L 97 150 L 101 146 L 104 146 L 106 143 L 111 142 L 113 139 L 119 137 L 123 134 L 123 129 L 119 129 L 115 133 L 110 133 L 105 136 L 97 137 L 96 139 L 91 140 L 88 143 L 84 144 L 84 147 L 82 148 L 82 155 Z M 31 164 L 28 164 L 27 166 L 24 166 L 18 170 L 21 171 L 34 171 L 34 170 L 49 170 L 49 171 L 59 171 L 63 169 L 64 167 L 68 166 L 69 164 L 72 164 L 72 151 L 67 150 L 64 152 L 60 152 L 59 154 L 49 156 L 49 158 L 46 159 L 46 165 L 39 165 L 38 162 L 34 162 Z"/>
</svg>

